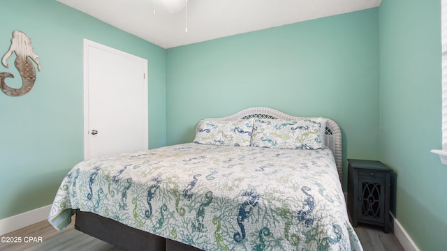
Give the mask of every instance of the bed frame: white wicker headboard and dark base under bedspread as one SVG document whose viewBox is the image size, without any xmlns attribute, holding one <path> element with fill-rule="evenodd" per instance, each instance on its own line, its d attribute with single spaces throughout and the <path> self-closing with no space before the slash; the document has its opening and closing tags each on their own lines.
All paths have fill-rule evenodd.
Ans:
<svg viewBox="0 0 447 251">
<path fill-rule="evenodd" d="M 268 107 L 253 107 L 244 109 L 230 116 L 207 120 L 234 121 L 237 119 L 251 118 L 286 120 L 306 119 L 304 117 L 291 116 Z M 328 146 L 334 154 L 340 183 L 343 184 L 342 131 L 337 123 L 331 119 L 328 119 L 328 122 L 326 123 L 325 146 Z M 124 250 L 199 250 L 198 248 L 168 238 L 134 229 L 115 220 L 104 218 L 94 213 L 82 212 L 80 210 L 76 211 L 75 229 L 115 245 L 117 248 L 123 248 Z"/>
</svg>

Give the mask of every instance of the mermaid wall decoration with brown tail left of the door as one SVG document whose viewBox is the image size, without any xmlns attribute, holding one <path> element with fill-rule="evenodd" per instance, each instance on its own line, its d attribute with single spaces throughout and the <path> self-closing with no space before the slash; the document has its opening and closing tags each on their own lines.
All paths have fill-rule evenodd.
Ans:
<svg viewBox="0 0 447 251">
<path fill-rule="evenodd" d="M 14 65 L 22 76 L 22 86 L 18 89 L 12 88 L 5 83 L 6 77 L 14 77 L 12 73 L 0 73 L 0 89 L 8 96 L 22 96 L 31 91 L 31 88 L 36 82 L 36 67 L 29 60 L 31 58 L 36 64 L 37 68 L 41 70 L 41 63 L 37 60 L 38 56 L 34 54 L 31 46 L 31 38 L 28 38 L 22 31 L 14 31 L 11 45 L 8 52 L 1 59 L 1 63 L 6 68 L 9 68 L 6 60 L 15 52 L 17 56 Z"/>
</svg>

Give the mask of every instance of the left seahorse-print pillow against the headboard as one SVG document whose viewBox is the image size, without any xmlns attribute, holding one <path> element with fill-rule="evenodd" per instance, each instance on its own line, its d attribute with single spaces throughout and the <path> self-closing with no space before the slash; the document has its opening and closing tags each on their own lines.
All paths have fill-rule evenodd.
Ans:
<svg viewBox="0 0 447 251">
<path fill-rule="evenodd" d="M 199 122 L 194 143 L 217 146 L 250 146 L 254 119 Z"/>
</svg>

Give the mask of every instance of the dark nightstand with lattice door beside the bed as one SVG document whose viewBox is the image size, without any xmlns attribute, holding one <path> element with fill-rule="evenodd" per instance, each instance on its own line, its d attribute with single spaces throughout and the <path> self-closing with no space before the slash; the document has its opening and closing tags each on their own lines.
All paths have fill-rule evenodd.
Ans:
<svg viewBox="0 0 447 251">
<path fill-rule="evenodd" d="M 348 160 L 348 208 L 358 222 L 390 229 L 391 169 L 376 160 Z"/>
</svg>

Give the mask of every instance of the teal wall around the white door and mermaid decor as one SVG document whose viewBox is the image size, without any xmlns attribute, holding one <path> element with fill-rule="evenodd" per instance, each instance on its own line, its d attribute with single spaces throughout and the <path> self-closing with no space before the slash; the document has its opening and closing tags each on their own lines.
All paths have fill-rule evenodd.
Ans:
<svg viewBox="0 0 447 251">
<path fill-rule="evenodd" d="M 0 219 L 52 203 L 61 179 L 83 159 L 83 38 L 148 60 L 149 147 L 166 145 L 166 50 L 55 0 L 1 0 L 0 56 L 24 31 L 42 65 L 21 97 L 0 92 Z M 10 86 L 21 85 L 14 66 Z"/>
</svg>

